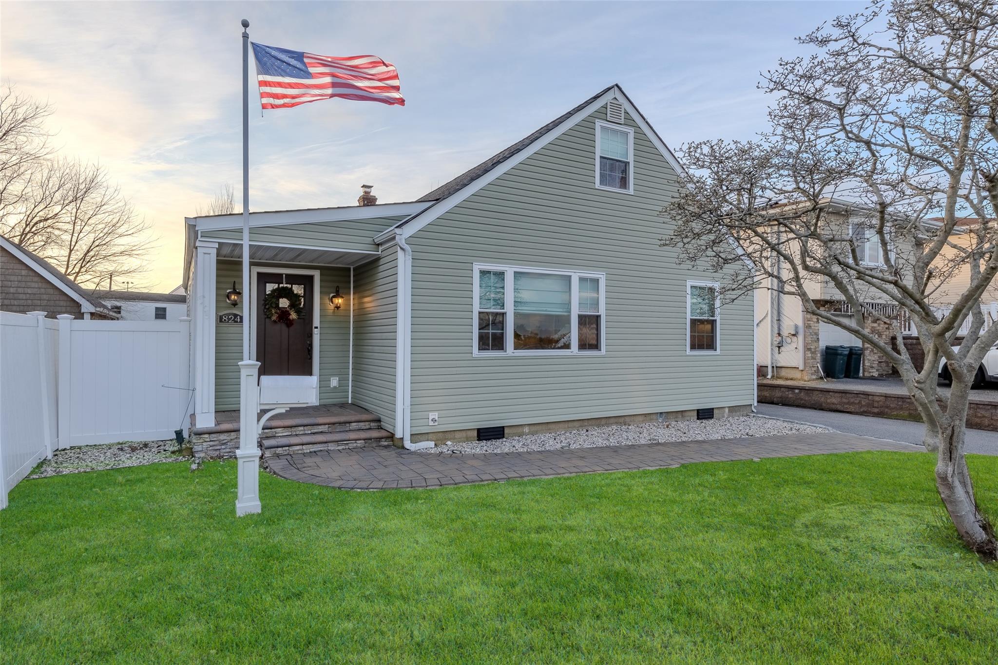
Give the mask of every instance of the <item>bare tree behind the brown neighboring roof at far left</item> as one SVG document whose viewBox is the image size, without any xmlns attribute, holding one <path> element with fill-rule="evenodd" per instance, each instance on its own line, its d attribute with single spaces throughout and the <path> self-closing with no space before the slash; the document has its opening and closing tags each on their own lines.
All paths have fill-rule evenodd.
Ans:
<svg viewBox="0 0 998 665">
<path fill-rule="evenodd" d="M 0 233 L 81 284 L 142 274 L 149 224 L 103 166 L 55 157 L 51 114 L 10 84 L 0 93 Z"/>
</svg>

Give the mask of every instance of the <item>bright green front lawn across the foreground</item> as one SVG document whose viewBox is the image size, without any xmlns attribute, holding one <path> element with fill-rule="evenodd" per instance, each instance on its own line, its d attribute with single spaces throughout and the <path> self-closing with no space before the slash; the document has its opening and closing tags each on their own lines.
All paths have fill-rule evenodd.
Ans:
<svg viewBox="0 0 998 665">
<path fill-rule="evenodd" d="M 25 481 L 0 659 L 998 661 L 933 456 L 352 493 L 183 464 Z M 998 458 L 970 460 L 998 507 Z"/>
</svg>

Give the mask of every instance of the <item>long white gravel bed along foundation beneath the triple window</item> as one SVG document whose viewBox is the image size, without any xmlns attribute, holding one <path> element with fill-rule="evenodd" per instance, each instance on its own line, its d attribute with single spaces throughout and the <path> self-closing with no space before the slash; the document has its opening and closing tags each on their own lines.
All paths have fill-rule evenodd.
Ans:
<svg viewBox="0 0 998 665">
<path fill-rule="evenodd" d="M 431 454 L 448 453 L 518 453 L 553 451 L 562 448 L 599 448 L 602 446 L 634 446 L 679 441 L 709 441 L 740 437 L 772 437 L 784 434 L 832 432 L 817 425 L 794 423 L 764 416 L 740 416 L 706 421 L 676 421 L 642 423 L 640 425 L 608 425 L 570 432 L 529 434 L 495 441 L 471 441 L 463 444 L 447 442 L 443 446 L 424 449 Z"/>
</svg>

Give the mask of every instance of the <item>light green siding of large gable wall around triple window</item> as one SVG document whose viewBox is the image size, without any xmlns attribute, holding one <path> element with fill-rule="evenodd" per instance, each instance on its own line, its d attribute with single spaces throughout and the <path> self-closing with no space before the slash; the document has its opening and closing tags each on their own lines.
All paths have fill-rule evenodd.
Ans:
<svg viewBox="0 0 998 665">
<path fill-rule="evenodd" d="M 687 354 L 687 280 L 712 275 L 659 246 L 676 173 L 630 117 L 634 194 L 595 186 L 605 118 L 601 107 L 408 239 L 413 433 L 751 404 L 751 298 L 722 307 L 720 354 Z M 474 262 L 605 272 L 606 354 L 473 357 Z"/>
</svg>

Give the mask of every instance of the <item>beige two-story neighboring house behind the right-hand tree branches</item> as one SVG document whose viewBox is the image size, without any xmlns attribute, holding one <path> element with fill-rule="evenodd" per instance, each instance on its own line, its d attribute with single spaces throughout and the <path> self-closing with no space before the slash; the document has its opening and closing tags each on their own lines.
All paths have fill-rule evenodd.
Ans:
<svg viewBox="0 0 998 665">
<path fill-rule="evenodd" d="M 868 266 L 883 264 L 880 242 L 874 231 L 867 225 L 863 208 L 854 201 L 839 198 L 827 198 L 820 202 L 825 212 L 826 223 L 838 225 L 839 232 L 847 233 L 854 238 L 864 238 L 858 246 L 859 260 Z M 939 220 L 926 220 L 925 227 L 940 226 Z M 954 234 L 957 242 L 963 235 L 962 228 Z M 914 257 L 915 247 L 910 242 L 904 242 L 888 234 L 891 256 L 902 271 L 910 265 Z M 943 250 L 940 261 L 947 252 Z M 779 274 L 787 274 L 788 268 L 779 266 Z M 962 281 L 961 281 L 962 279 Z M 961 273 L 948 274 L 945 283 L 932 294 L 934 304 L 945 306 L 952 302 L 954 294 L 963 292 L 969 283 L 969 269 L 964 267 Z M 857 317 L 852 312 L 841 292 L 830 280 L 817 280 L 807 283 L 807 294 L 822 311 L 840 318 L 845 323 L 858 325 Z M 989 293 L 994 293 L 992 290 Z M 883 293 L 869 288 L 863 297 L 863 303 L 869 309 L 890 317 L 898 315 L 898 306 Z M 984 301 L 988 301 L 986 294 Z M 821 359 L 824 348 L 829 344 L 844 346 L 859 346 L 863 348 L 862 375 L 866 377 L 882 377 L 893 374 L 894 368 L 887 358 L 876 351 L 874 347 L 860 338 L 831 323 L 818 320 L 816 316 L 807 314 L 803 302 L 795 295 L 782 292 L 773 278 L 767 278 L 763 288 L 755 289 L 755 358 L 758 372 L 762 376 L 772 376 L 777 379 L 817 379 L 821 376 Z M 893 332 L 887 324 L 879 321 L 868 321 L 869 330 L 881 340 L 893 343 Z M 902 323 L 902 328 L 903 328 Z M 895 340 L 896 342 L 896 340 Z M 896 346 L 896 344 L 895 344 Z M 914 353 L 917 343 L 909 345 Z M 920 353 L 920 350 L 919 350 Z"/>
</svg>

